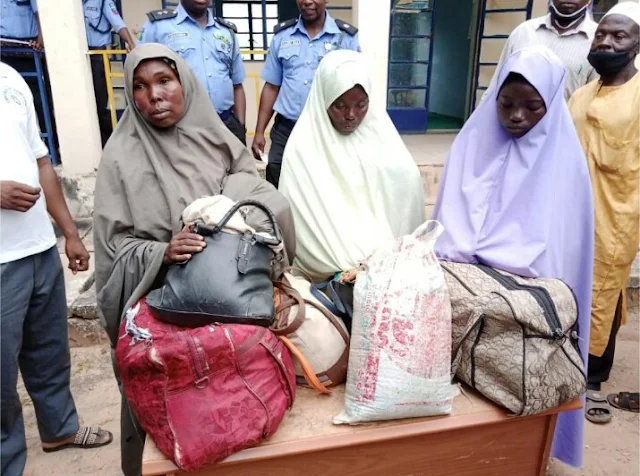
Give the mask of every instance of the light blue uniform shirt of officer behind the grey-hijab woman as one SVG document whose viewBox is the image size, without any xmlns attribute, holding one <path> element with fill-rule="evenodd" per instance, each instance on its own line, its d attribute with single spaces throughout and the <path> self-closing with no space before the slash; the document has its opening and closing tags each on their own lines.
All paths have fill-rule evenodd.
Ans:
<svg viewBox="0 0 640 476">
<path fill-rule="evenodd" d="M 162 43 L 178 53 L 205 86 L 218 113 L 235 103 L 233 86 L 246 78 L 240 46 L 231 29 L 212 15 L 202 28 L 182 4 L 172 18 L 147 21 L 140 32 L 141 43 Z"/>
</svg>

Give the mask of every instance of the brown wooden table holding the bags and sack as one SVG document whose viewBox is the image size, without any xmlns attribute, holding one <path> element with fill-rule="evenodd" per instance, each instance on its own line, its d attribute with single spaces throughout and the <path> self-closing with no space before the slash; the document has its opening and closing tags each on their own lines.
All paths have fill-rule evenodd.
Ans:
<svg viewBox="0 0 640 476">
<path fill-rule="evenodd" d="M 330 396 L 299 388 L 278 432 L 197 475 L 536 475 L 544 476 L 558 413 L 580 399 L 531 417 L 510 417 L 465 388 L 449 416 L 336 426 L 344 388 Z M 142 474 L 182 473 L 147 437 Z"/>
</svg>

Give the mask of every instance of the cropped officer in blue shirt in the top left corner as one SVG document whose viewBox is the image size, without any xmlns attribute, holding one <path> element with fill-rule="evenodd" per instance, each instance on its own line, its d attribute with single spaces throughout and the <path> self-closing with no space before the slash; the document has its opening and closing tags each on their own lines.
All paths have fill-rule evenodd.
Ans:
<svg viewBox="0 0 640 476">
<path fill-rule="evenodd" d="M 36 0 L 0 0 L 0 38 L 26 41 L 29 42 L 31 47 L 36 51 L 42 50 L 44 42 L 40 30 L 40 19 L 38 17 L 38 4 Z M 2 44 L 8 47 L 18 46 L 9 42 L 3 42 Z M 44 83 L 47 88 L 48 105 L 49 111 L 51 112 L 51 124 L 53 126 L 53 131 L 49 132 L 51 132 L 57 148 L 58 138 L 56 137 L 47 63 L 44 55 L 41 55 L 40 59 L 42 60 L 42 68 L 44 70 Z M 19 73 L 35 71 L 35 64 L 31 54 L 5 53 L 2 51 L 2 48 L 0 48 L 0 60 Z M 38 122 L 40 123 L 40 128 L 44 131 L 44 107 L 40 97 L 38 79 L 35 76 L 24 79 L 33 94 L 33 103 L 36 113 L 38 114 Z"/>
</svg>

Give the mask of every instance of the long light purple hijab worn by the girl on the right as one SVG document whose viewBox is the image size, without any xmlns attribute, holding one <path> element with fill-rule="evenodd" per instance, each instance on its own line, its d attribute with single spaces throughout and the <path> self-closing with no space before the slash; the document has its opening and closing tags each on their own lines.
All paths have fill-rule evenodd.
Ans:
<svg viewBox="0 0 640 476">
<path fill-rule="evenodd" d="M 498 121 L 497 85 L 510 73 L 524 76 L 547 107 L 520 139 Z M 563 96 L 564 66 L 546 48 L 525 48 L 506 61 L 498 78 L 451 148 L 434 210 L 445 229 L 436 254 L 567 283 L 578 299 L 586 362 L 594 210 L 587 161 Z M 552 455 L 581 466 L 583 433 L 584 411 L 560 415 Z"/>
</svg>

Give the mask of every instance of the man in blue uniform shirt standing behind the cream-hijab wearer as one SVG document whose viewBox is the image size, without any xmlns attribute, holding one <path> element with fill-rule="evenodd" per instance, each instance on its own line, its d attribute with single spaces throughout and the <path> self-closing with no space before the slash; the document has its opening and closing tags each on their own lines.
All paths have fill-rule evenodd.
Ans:
<svg viewBox="0 0 640 476">
<path fill-rule="evenodd" d="M 256 159 L 264 153 L 264 132 L 273 116 L 267 180 L 278 187 L 282 154 L 293 126 L 300 117 L 316 69 L 327 53 L 337 49 L 360 51 L 358 29 L 334 20 L 326 12 L 327 0 L 296 0 L 300 17 L 274 29 L 262 70 L 265 81 L 260 97 L 258 125 L 252 150 Z"/>
</svg>

